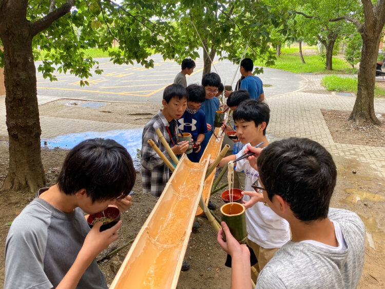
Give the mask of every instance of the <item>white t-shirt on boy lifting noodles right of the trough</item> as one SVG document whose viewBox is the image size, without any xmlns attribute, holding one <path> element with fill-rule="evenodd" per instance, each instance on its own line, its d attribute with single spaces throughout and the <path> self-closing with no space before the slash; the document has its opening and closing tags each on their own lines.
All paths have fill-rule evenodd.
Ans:
<svg viewBox="0 0 385 289">
<path fill-rule="evenodd" d="M 247 147 L 236 154 L 240 157 Z M 253 169 L 247 159 L 237 161 L 236 171 L 244 171 L 245 191 L 254 191 L 252 184 L 259 178 L 259 173 Z M 243 196 L 248 201 L 248 195 Z M 246 210 L 247 238 L 266 249 L 280 248 L 290 240 L 290 229 L 286 220 L 277 215 L 270 207 L 258 202 Z"/>
</svg>

